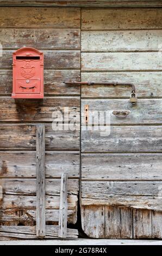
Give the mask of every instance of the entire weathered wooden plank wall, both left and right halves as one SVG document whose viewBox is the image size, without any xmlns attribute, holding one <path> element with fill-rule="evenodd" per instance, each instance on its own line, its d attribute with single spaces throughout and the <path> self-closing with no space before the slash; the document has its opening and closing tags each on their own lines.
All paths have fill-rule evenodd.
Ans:
<svg viewBox="0 0 162 256">
<path fill-rule="evenodd" d="M 31 2 L 38 7 L 29 7 Z M 67 172 L 68 223 L 77 221 L 82 175 L 82 228 L 89 237 L 161 238 L 162 10 L 40 7 L 84 7 L 84 0 L 0 1 L 6 4 L 28 7 L 1 7 L 1 239 L 36 238 L 39 123 L 45 124 L 47 224 L 58 223 L 60 178 Z M 161 1 L 86 1 L 86 6 L 161 7 Z M 10 98 L 12 52 L 22 46 L 45 53 L 45 99 L 41 101 Z M 81 173 L 80 132 L 51 127 L 56 109 L 69 107 L 74 115 L 80 113 L 80 87 L 63 83 L 79 81 L 80 68 L 82 81 L 134 83 L 139 97 L 132 106 L 128 87 L 82 86 L 83 128 L 84 105 L 90 111 L 126 108 L 130 115 L 116 119 L 111 114 L 109 137 L 82 129 Z M 67 229 L 67 235 L 75 238 L 77 232 Z M 58 226 L 48 225 L 46 237 L 57 236 Z"/>
</svg>

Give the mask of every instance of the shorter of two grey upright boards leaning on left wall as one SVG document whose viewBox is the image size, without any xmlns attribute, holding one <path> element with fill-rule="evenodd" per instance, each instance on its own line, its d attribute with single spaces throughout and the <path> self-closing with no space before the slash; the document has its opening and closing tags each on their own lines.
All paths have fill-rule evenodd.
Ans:
<svg viewBox="0 0 162 256">
<path fill-rule="evenodd" d="M 60 212 L 59 212 L 59 237 L 66 238 L 67 236 L 67 182 L 68 175 L 61 175 L 60 188 Z"/>
</svg>

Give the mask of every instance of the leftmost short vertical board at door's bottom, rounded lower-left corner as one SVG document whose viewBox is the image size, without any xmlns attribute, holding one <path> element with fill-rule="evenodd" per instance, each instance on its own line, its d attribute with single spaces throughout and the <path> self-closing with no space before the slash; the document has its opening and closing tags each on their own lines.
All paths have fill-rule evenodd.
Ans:
<svg viewBox="0 0 162 256">
<path fill-rule="evenodd" d="M 104 238 L 104 206 L 82 206 L 82 229 L 92 238 Z"/>
</svg>

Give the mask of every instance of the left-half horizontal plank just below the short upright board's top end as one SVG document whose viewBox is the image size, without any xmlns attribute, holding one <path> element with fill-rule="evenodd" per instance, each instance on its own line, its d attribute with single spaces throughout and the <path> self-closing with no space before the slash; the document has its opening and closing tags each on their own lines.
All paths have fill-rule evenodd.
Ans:
<svg viewBox="0 0 162 256">
<path fill-rule="evenodd" d="M 46 179 L 46 195 L 60 196 L 60 179 Z M 35 196 L 36 195 L 36 179 L 3 179 L 3 194 Z M 68 180 L 68 194 L 78 194 L 78 179 Z"/>
</svg>

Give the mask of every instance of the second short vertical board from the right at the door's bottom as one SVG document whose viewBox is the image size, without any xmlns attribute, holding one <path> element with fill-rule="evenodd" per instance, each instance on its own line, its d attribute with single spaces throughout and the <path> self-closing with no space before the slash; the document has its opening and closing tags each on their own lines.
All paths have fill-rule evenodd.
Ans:
<svg viewBox="0 0 162 256">
<path fill-rule="evenodd" d="M 133 234 L 135 239 L 152 238 L 152 211 L 133 210 Z"/>
</svg>

